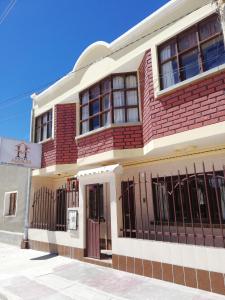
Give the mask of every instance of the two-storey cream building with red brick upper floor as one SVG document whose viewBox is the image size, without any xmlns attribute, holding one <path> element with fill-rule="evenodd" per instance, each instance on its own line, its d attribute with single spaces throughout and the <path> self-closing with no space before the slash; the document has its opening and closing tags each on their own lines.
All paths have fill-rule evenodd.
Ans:
<svg viewBox="0 0 225 300">
<path fill-rule="evenodd" d="M 112 254 L 116 269 L 225 294 L 225 51 L 211 0 L 170 1 L 32 98 L 43 151 L 30 246 Z"/>
</svg>

